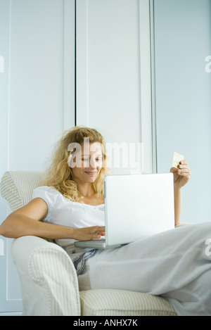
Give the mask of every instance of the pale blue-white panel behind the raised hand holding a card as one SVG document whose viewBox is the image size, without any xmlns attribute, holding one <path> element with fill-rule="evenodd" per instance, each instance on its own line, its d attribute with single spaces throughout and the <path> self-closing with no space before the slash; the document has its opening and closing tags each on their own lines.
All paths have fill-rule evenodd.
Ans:
<svg viewBox="0 0 211 330">
<path fill-rule="evenodd" d="M 170 169 L 174 151 L 188 160 L 181 222 L 211 217 L 210 27 L 210 0 L 155 0 L 158 171 Z"/>
</svg>

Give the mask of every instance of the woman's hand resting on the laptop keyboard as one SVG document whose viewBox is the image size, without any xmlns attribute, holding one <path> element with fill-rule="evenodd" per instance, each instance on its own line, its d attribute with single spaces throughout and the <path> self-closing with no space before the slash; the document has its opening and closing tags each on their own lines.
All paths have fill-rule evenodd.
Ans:
<svg viewBox="0 0 211 330">
<path fill-rule="evenodd" d="M 105 227 L 75 228 L 72 239 L 76 241 L 93 241 L 94 239 L 100 239 L 105 234 Z"/>
</svg>

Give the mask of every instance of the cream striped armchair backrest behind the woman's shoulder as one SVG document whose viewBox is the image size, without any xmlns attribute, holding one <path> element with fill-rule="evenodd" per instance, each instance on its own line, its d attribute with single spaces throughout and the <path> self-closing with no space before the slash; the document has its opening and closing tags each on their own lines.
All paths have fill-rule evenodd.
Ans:
<svg viewBox="0 0 211 330">
<path fill-rule="evenodd" d="M 18 210 L 31 201 L 41 178 L 42 172 L 5 172 L 1 179 L 1 196 L 8 201 L 11 210 Z"/>
</svg>

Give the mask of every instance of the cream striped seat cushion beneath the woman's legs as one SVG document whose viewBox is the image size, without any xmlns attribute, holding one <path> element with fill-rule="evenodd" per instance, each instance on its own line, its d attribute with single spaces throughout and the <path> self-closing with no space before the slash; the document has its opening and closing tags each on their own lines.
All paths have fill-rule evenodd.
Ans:
<svg viewBox="0 0 211 330">
<path fill-rule="evenodd" d="M 176 316 L 165 298 L 114 289 L 80 292 L 84 316 Z"/>
</svg>

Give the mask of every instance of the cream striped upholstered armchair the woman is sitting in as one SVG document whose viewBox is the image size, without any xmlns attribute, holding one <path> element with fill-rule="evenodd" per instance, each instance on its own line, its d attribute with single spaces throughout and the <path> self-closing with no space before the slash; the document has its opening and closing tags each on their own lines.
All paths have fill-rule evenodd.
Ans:
<svg viewBox="0 0 211 330">
<path fill-rule="evenodd" d="M 6 172 L 1 196 L 11 210 L 27 204 L 41 184 L 41 172 Z M 175 316 L 165 298 L 133 291 L 98 289 L 79 291 L 77 273 L 60 246 L 35 236 L 23 236 L 12 244 L 18 269 L 25 316 Z"/>
</svg>

